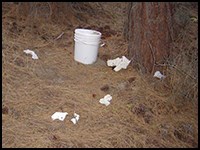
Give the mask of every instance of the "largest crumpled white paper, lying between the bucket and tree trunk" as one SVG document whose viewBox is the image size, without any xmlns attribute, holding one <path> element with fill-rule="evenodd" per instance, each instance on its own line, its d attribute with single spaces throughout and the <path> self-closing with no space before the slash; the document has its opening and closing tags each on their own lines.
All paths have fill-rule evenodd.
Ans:
<svg viewBox="0 0 200 150">
<path fill-rule="evenodd" d="M 125 56 L 122 56 L 122 58 L 117 57 L 113 60 L 108 60 L 107 65 L 111 67 L 116 66 L 114 70 L 117 72 L 122 68 L 126 69 L 130 62 L 131 60 L 128 60 Z"/>
</svg>

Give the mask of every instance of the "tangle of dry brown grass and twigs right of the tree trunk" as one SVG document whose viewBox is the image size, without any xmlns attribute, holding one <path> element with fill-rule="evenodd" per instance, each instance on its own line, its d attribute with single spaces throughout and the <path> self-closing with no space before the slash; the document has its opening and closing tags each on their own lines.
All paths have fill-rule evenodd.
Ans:
<svg viewBox="0 0 200 150">
<path fill-rule="evenodd" d="M 198 8 L 193 4 L 177 5 L 174 27 L 178 30 L 174 30 L 171 56 L 166 64 L 158 64 L 167 76 L 161 87 L 170 91 L 170 100 L 194 102 L 198 99 L 198 20 L 194 21 L 198 19 Z"/>
</svg>

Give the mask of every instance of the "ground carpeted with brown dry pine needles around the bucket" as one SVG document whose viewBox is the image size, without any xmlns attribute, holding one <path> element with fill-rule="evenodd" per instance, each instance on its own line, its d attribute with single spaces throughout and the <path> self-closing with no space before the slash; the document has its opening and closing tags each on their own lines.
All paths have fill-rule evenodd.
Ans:
<svg viewBox="0 0 200 150">
<path fill-rule="evenodd" d="M 198 147 L 196 101 L 172 101 L 164 82 L 131 66 L 114 72 L 106 65 L 127 56 L 127 3 L 98 8 L 87 23 L 72 18 L 73 24 L 62 24 L 18 15 L 17 4 L 3 5 L 2 147 Z M 74 61 L 77 27 L 102 32 L 105 46 L 92 65 Z M 107 107 L 99 103 L 106 94 L 113 97 Z M 64 121 L 51 119 L 58 111 L 68 112 Z M 75 125 L 74 112 L 80 115 Z"/>
</svg>

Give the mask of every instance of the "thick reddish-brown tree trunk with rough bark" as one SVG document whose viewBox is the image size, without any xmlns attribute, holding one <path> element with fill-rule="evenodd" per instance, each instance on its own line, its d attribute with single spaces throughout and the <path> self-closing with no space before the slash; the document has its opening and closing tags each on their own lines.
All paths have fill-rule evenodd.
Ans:
<svg viewBox="0 0 200 150">
<path fill-rule="evenodd" d="M 140 2 L 132 4 L 128 24 L 129 56 L 142 73 L 159 69 L 170 54 L 172 3 Z"/>
</svg>

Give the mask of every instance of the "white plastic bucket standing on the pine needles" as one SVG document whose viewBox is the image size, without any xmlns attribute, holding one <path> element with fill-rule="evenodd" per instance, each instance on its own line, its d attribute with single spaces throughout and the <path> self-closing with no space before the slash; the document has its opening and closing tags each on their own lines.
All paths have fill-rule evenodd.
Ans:
<svg viewBox="0 0 200 150">
<path fill-rule="evenodd" d="M 74 35 L 74 59 L 83 64 L 93 64 L 97 60 L 101 33 L 89 29 L 76 29 Z"/>
</svg>

